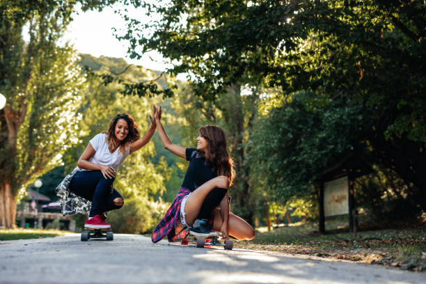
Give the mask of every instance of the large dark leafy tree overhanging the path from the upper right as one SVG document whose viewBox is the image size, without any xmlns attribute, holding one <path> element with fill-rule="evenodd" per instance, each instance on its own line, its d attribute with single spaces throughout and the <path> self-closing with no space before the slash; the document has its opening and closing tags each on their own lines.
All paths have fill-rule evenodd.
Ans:
<svg viewBox="0 0 426 284">
<path fill-rule="evenodd" d="M 313 116 L 324 119 L 317 122 L 319 126 L 330 123 L 323 116 L 325 113 L 314 111 L 315 104 L 332 118 L 340 119 L 336 111 L 323 104 L 332 107 L 345 102 L 364 124 L 360 130 L 354 128 L 358 119 L 349 123 L 347 127 L 355 133 L 339 141 L 368 145 L 363 155 L 351 155 L 368 156 L 370 164 L 393 169 L 415 184 L 420 189 L 418 198 L 426 200 L 426 180 L 422 175 L 426 155 L 423 1 L 175 0 L 167 5 L 143 6 L 162 18 L 148 24 L 129 20 L 129 31 L 122 38 L 131 43 L 132 56 L 156 49 L 176 62 L 169 72 L 191 74 L 196 95 L 206 100 L 225 97 L 232 84 L 249 81 L 251 86 L 281 88 L 283 97 L 305 93 L 310 99 L 303 100 L 304 107 L 311 111 L 304 112 L 307 117 L 301 118 L 301 128 L 315 123 L 310 120 Z M 151 33 L 141 33 L 143 29 L 150 29 Z M 364 111 L 355 111 L 359 109 Z M 279 129 L 281 122 L 276 120 L 271 127 Z M 303 136 L 303 130 L 299 130 L 297 134 Z M 319 135 L 321 129 L 311 133 Z M 281 135 L 285 140 L 287 133 Z M 306 137 L 300 147 L 319 147 L 310 149 L 317 156 L 307 153 L 304 159 L 310 157 L 318 165 L 330 167 L 333 165 L 324 161 L 332 162 L 328 156 L 331 152 L 323 150 L 333 148 L 333 143 L 325 140 L 318 145 Z M 336 148 L 343 152 L 335 154 L 345 155 L 349 145 Z M 287 156 L 276 157 L 277 171 L 281 170 L 279 165 L 284 166 L 280 161 L 299 161 L 297 152 L 282 154 Z M 293 172 L 296 180 L 302 182 L 299 178 L 306 173 L 310 176 L 305 175 L 305 182 L 315 178 L 321 172 L 318 165 L 315 171 L 308 168 L 309 171 Z M 283 178 L 292 180 L 294 176 L 278 175 L 273 182 Z M 300 187 L 301 184 L 297 186 Z M 282 196 L 294 193 L 294 189 L 284 188 L 287 193 L 282 192 Z M 426 203 L 423 204 L 425 208 Z"/>
</svg>

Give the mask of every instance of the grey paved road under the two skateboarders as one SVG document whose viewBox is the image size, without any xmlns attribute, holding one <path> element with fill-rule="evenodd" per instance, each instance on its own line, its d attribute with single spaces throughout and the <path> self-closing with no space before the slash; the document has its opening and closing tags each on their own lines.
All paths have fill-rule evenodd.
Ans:
<svg viewBox="0 0 426 284">
<path fill-rule="evenodd" d="M 114 237 L 0 242 L 0 283 L 426 283 L 426 274 L 375 265 Z"/>
</svg>

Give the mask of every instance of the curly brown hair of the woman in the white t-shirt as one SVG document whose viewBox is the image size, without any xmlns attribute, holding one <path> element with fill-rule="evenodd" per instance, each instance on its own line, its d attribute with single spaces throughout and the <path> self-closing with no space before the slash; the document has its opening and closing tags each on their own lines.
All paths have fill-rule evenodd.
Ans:
<svg viewBox="0 0 426 284">
<path fill-rule="evenodd" d="M 116 134 L 114 132 L 116 129 L 117 122 L 120 119 L 126 120 L 127 124 L 129 125 L 129 133 L 127 134 L 126 138 L 120 143 L 120 152 L 125 154 L 127 148 L 129 148 L 130 143 L 138 140 L 140 137 L 138 125 L 136 124 L 132 116 L 129 116 L 127 113 L 120 113 L 116 115 L 111 120 L 111 123 L 109 123 L 108 131 L 102 133 L 107 134 L 106 140 L 108 143 L 108 149 L 111 152 L 113 148 L 116 148 L 116 139 L 114 139 Z"/>
</svg>

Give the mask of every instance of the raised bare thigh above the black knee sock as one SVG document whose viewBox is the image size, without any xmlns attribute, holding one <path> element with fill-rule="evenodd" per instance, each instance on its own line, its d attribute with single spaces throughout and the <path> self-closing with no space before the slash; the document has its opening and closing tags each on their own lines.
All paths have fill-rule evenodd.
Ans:
<svg viewBox="0 0 426 284">
<path fill-rule="evenodd" d="M 192 191 L 192 193 L 189 195 L 187 199 L 187 203 L 185 204 L 185 207 L 184 207 L 185 219 L 189 226 L 192 226 L 195 219 L 197 218 L 198 213 L 200 212 L 201 206 L 203 205 L 203 202 L 205 200 L 205 197 L 215 187 L 228 189 L 228 178 L 219 176 L 217 178 L 209 180 L 203 183 L 196 190 Z"/>
</svg>

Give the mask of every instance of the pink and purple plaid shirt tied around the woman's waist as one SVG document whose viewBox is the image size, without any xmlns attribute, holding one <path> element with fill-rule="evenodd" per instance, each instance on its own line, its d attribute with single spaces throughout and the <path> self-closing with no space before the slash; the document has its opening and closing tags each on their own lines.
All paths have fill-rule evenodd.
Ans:
<svg viewBox="0 0 426 284">
<path fill-rule="evenodd" d="M 176 194 L 175 200 L 170 208 L 168 208 L 166 214 L 163 219 L 159 221 L 157 227 L 155 227 L 154 232 L 152 232 L 151 240 L 153 243 L 161 241 L 167 235 L 167 239 L 169 242 L 178 242 L 180 239 L 184 239 L 187 237 L 189 228 L 185 228 L 182 223 L 180 223 L 180 203 L 182 203 L 182 199 L 189 195 L 191 191 L 184 187 L 181 187 L 178 194 Z M 178 225 L 178 230 L 175 229 L 175 225 Z M 175 234 L 175 231 L 178 234 Z"/>
</svg>

